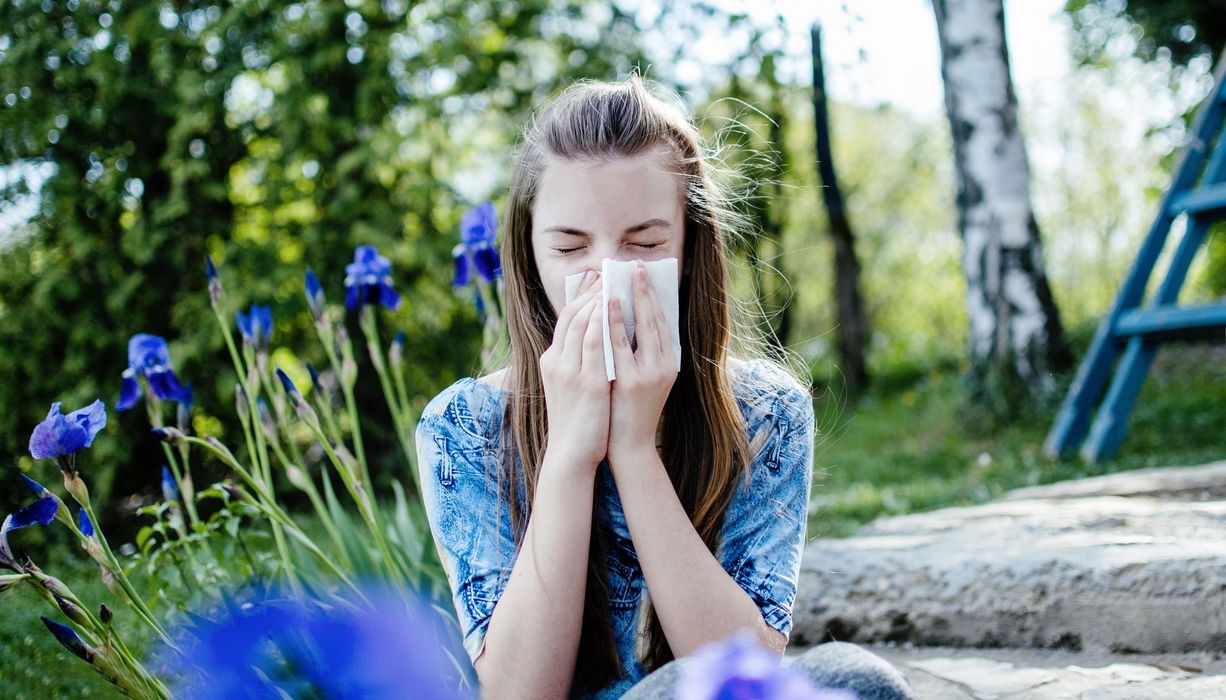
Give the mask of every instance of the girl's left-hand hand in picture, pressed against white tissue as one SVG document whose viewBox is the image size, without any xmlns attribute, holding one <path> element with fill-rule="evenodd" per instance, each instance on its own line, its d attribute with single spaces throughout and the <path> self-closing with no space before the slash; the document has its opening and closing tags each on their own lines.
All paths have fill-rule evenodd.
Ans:
<svg viewBox="0 0 1226 700">
<path fill-rule="evenodd" d="M 576 470 L 608 454 L 609 381 L 604 371 L 600 272 L 588 272 L 558 315 L 553 344 L 541 356 L 549 438 L 546 450 Z M 624 333 L 623 333 L 624 335 Z"/>
</svg>

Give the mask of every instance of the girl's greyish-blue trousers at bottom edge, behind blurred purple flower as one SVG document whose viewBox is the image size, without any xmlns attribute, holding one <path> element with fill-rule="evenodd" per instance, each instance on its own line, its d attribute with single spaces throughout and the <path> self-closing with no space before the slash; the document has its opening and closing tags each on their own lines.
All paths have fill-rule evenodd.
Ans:
<svg viewBox="0 0 1226 700">
<path fill-rule="evenodd" d="M 672 700 L 677 679 L 688 658 L 661 666 L 635 684 L 623 700 Z M 787 661 L 785 660 L 785 663 Z M 853 644 L 832 641 L 810 649 L 791 660 L 791 667 L 803 672 L 819 688 L 846 688 L 859 700 L 911 700 L 906 678 L 884 658 Z"/>
</svg>

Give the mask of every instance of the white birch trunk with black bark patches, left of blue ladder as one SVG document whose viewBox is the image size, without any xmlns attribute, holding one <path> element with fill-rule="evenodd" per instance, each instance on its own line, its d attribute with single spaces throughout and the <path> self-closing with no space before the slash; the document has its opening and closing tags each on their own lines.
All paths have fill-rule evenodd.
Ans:
<svg viewBox="0 0 1226 700">
<path fill-rule="evenodd" d="M 1043 271 L 1002 0 L 933 0 L 958 170 L 972 380 L 1011 413 L 1070 357 Z"/>
</svg>

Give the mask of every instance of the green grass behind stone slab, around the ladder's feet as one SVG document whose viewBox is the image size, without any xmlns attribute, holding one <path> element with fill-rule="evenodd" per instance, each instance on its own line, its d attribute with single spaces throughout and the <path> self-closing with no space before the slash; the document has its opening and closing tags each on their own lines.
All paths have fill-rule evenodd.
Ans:
<svg viewBox="0 0 1226 700">
<path fill-rule="evenodd" d="M 1067 381 L 1067 379 L 1065 379 Z M 819 401 L 809 537 L 846 537 L 880 516 L 987 503 L 1019 487 L 1226 458 L 1226 348 L 1159 352 L 1112 458 L 1048 460 L 1063 391 L 993 429 L 966 407 L 956 367 L 883 378 L 855 407 Z"/>
</svg>

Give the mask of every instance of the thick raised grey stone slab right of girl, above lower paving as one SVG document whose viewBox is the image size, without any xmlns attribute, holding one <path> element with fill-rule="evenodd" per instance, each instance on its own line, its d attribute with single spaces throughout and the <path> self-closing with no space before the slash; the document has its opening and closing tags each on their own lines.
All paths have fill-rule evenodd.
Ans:
<svg viewBox="0 0 1226 700">
<path fill-rule="evenodd" d="M 804 552 L 792 640 L 1226 651 L 1226 501 L 1005 500 Z"/>
</svg>

